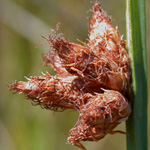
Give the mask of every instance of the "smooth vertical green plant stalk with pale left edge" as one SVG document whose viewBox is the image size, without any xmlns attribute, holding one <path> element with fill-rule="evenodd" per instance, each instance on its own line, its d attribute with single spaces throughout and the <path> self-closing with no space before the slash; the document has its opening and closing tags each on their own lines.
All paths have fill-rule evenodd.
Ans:
<svg viewBox="0 0 150 150">
<path fill-rule="evenodd" d="M 145 1 L 126 0 L 127 48 L 131 58 L 132 114 L 126 123 L 127 150 L 147 150 Z"/>
</svg>

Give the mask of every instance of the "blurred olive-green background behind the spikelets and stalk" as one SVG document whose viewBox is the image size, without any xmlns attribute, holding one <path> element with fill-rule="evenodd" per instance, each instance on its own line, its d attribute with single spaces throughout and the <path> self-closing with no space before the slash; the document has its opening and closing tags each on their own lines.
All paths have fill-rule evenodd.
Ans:
<svg viewBox="0 0 150 150">
<path fill-rule="evenodd" d="M 112 16 L 113 25 L 118 25 L 120 33 L 125 35 L 125 0 L 100 2 Z M 149 68 L 150 1 L 146 2 Z M 41 36 L 48 37 L 51 29 L 60 22 L 65 38 L 86 42 L 87 17 L 91 15 L 87 11 L 91 6 L 90 0 L 0 1 L 0 150 L 77 149 L 66 144 L 68 131 L 77 120 L 76 112 L 54 113 L 34 107 L 23 95 L 12 94 L 7 85 L 16 79 L 25 80 L 24 76 L 41 75 L 41 71 L 54 74 L 50 67 L 42 66 L 41 55 L 48 52 L 49 44 Z M 150 129 L 150 119 L 148 121 Z M 117 129 L 125 131 L 125 123 Z M 99 142 L 84 142 L 84 145 L 88 150 L 125 150 L 126 136 L 107 135 Z"/>
</svg>

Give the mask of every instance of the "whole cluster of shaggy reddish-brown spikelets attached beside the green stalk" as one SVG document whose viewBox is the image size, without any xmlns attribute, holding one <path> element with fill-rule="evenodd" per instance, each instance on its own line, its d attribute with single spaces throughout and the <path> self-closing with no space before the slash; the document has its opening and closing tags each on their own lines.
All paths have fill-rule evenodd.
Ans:
<svg viewBox="0 0 150 150">
<path fill-rule="evenodd" d="M 94 3 L 88 43 L 76 44 L 57 34 L 49 35 L 50 50 L 43 55 L 56 76 L 43 74 L 15 82 L 11 90 L 24 93 L 35 104 L 57 111 L 79 112 L 68 143 L 86 149 L 81 141 L 98 141 L 130 115 L 129 57 L 125 42 L 98 2 Z"/>
</svg>

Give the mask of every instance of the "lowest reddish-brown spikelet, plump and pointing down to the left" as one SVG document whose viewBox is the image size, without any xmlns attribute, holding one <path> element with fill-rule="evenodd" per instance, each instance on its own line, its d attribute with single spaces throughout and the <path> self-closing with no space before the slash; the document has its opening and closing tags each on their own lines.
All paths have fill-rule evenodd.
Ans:
<svg viewBox="0 0 150 150">
<path fill-rule="evenodd" d="M 79 119 L 70 130 L 68 142 L 98 141 L 130 114 L 126 99 L 117 91 L 106 90 L 103 94 L 87 95 L 88 103 L 81 107 Z"/>
</svg>

